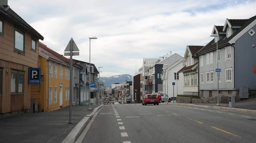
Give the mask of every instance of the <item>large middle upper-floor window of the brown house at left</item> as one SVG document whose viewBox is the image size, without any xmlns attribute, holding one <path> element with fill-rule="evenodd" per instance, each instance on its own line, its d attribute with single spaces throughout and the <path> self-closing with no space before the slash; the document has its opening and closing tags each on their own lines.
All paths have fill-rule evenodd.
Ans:
<svg viewBox="0 0 256 143">
<path fill-rule="evenodd" d="M 15 46 L 14 49 L 18 52 L 24 53 L 24 34 L 15 30 Z"/>
</svg>

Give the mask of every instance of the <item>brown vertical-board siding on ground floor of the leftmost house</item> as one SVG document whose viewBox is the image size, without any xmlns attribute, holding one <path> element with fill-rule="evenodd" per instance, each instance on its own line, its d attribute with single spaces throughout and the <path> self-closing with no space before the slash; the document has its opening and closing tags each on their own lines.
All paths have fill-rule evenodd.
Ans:
<svg viewBox="0 0 256 143">
<path fill-rule="evenodd" d="M 0 95 L 0 114 L 30 108 L 29 67 L 0 59 L 3 67 L 3 95 Z M 11 70 L 24 71 L 24 94 L 11 95 Z"/>
</svg>

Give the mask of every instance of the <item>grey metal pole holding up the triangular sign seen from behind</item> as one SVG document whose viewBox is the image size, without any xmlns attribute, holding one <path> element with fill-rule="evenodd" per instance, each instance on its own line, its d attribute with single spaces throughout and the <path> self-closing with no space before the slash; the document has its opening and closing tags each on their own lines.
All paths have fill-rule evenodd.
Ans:
<svg viewBox="0 0 256 143">
<path fill-rule="evenodd" d="M 73 41 L 70 40 L 70 120 L 69 123 L 72 124 L 72 90 L 73 90 Z"/>
</svg>

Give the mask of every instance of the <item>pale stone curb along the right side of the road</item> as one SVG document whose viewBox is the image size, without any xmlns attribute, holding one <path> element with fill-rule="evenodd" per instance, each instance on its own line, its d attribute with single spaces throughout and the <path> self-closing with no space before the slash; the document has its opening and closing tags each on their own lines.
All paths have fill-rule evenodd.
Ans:
<svg viewBox="0 0 256 143">
<path fill-rule="evenodd" d="M 170 104 L 171 105 L 171 104 Z M 205 105 L 196 105 L 196 104 L 185 104 L 185 103 L 175 103 L 172 105 L 187 105 L 187 106 L 194 106 L 194 107 L 204 107 L 204 108 L 214 108 L 214 109 L 226 109 L 230 111 L 236 112 L 244 112 L 244 113 L 251 113 L 256 114 L 255 110 L 248 110 L 248 109 L 239 109 L 239 108 L 230 108 L 230 107 L 218 107 L 218 106 L 205 106 Z"/>
</svg>

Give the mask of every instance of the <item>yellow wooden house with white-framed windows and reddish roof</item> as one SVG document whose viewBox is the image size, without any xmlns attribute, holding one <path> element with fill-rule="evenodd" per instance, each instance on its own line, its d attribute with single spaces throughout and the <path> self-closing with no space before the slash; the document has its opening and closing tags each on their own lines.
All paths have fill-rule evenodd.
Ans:
<svg viewBox="0 0 256 143">
<path fill-rule="evenodd" d="M 31 84 L 31 98 L 38 103 L 39 112 L 69 106 L 70 66 L 62 55 L 39 42 L 38 67 L 41 68 L 41 84 Z M 64 57 L 65 58 L 65 57 Z"/>
</svg>

